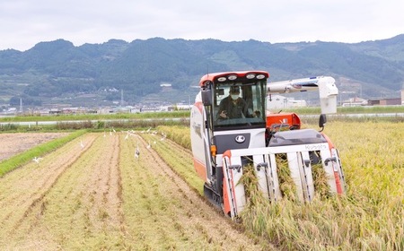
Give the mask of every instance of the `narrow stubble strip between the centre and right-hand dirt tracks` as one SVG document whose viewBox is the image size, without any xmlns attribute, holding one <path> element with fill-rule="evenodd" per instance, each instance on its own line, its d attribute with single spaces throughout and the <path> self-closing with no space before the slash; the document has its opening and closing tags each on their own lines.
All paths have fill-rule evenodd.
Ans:
<svg viewBox="0 0 404 251">
<path fill-rule="evenodd" d="M 140 157 L 134 157 L 136 145 Z M 136 250 L 196 249 L 205 243 L 203 238 L 184 230 L 178 221 L 182 201 L 172 196 L 175 186 L 170 177 L 156 170 L 162 169 L 162 160 L 155 161 L 145 148 L 145 142 L 136 138 L 123 149 L 123 197 L 128 236 Z M 188 246 L 187 246 L 188 245 Z M 200 249 L 200 248 L 197 248 Z"/>
</svg>

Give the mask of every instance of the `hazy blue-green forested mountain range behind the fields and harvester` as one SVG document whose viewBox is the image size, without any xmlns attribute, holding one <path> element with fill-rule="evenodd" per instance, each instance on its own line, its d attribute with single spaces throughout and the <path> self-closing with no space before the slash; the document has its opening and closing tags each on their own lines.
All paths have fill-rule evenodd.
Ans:
<svg viewBox="0 0 404 251">
<path fill-rule="evenodd" d="M 23 52 L 0 51 L 0 105 L 20 99 L 26 106 L 189 102 L 203 74 L 250 69 L 268 71 L 271 81 L 330 75 L 340 91 L 399 97 L 404 34 L 356 44 L 154 38 L 75 47 L 57 39 Z"/>
</svg>

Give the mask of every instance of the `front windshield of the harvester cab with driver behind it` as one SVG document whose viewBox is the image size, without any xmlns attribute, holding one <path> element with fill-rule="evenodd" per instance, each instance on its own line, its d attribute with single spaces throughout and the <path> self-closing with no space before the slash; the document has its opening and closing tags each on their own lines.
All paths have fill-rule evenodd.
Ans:
<svg viewBox="0 0 404 251">
<path fill-rule="evenodd" d="M 265 126 L 266 83 L 217 82 L 213 105 L 215 128 Z"/>
</svg>

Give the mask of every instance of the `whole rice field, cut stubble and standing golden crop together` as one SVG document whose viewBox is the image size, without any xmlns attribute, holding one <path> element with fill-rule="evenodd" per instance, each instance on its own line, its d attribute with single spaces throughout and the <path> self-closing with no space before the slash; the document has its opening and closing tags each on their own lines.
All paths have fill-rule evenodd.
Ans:
<svg viewBox="0 0 404 251">
<path fill-rule="evenodd" d="M 404 250 L 402 123 L 328 123 L 347 194 L 269 203 L 251 186 L 241 223 L 203 199 L 189 127 L 156 132 L 83 134 L 1 177 L 0 249 Z"/>
</svg>

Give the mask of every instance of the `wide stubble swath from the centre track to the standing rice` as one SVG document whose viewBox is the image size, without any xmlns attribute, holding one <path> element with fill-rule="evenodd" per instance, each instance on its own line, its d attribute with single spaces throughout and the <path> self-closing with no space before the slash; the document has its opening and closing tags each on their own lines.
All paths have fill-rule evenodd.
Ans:
<svg viewBox="0 0 404 251">
<path fill-rule="evenodd" d="M 140 137 L 140 158 L 123 177 L 136 178 L 139 186 L 126 187 L 132 194 L 132 203 L 126 207 L 127 231 L 138 239 L 141 249 L 218 249 L 259 250 L 260 247 L 245 233 L 236 229 L 229 219 L 207 204 L 179 177 Z M 172 156 L 183 148 L 170 144 Z M 181 154 L 181 153 L 180 153 Z M 179 158 L 188 158 L 180 156 Z M 123 157 L 126 158 L 126 157 Z M 132 157 L 133 158 L 133 157 Z M 192 167 L 189 167 L 192 168 Z M 130 192 L 129 192 L 130 191 Z M 127 198 L 127 195 L 124 195 Z M 140 209 L 139 209 L 140 208 Z M 129 212 L 129 213 L 127 213 Z M 131 222 L 139 222 L 134 227 Z M 147 234 L 153 232 L 154 235 Z M 149 246 L 150 245 L 150 246 Z"/>
</svg>

